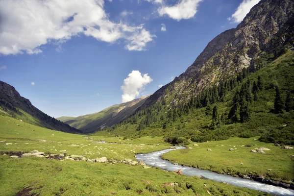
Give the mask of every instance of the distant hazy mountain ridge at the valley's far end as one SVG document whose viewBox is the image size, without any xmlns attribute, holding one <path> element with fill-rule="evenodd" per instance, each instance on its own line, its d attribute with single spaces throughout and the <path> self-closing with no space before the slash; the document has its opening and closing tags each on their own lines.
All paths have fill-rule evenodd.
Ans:
<svg viewBox="0 0 294 196">
<path fill-rule="evenodd" d="M 116 123 L 120 123 L 143 105 L 148 97 L 149 96 L 145 96 L 125 103 L 112 105 L 94 114 L 87 114 L 76 118 L 60 117 L 57 118 L 57 120 L 78 128 L 84 133 L 95 132 Z"/>
</svg>

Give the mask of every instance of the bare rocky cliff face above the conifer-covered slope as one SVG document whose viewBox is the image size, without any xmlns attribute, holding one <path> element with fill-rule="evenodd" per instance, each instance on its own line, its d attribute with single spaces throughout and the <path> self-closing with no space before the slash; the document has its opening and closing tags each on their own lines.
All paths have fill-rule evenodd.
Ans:
<svg viewBox="0 0 294 196">
<path fill-rule="evenodd" d="M 185 73 L 156 91 L 139 110 L 171 95 L 175 103 L 185 101 L 249 67 L 263 52 L 293 46 L 293 17 L 293 0 L 261 0 L 242 23 L 209 42 Z"/>
</svg>

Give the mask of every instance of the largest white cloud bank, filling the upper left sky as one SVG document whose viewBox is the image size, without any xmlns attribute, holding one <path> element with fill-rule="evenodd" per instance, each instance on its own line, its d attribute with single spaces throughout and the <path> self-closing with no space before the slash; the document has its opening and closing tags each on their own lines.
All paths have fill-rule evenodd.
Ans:
<svg viewBox="0 0 294 196">
<path fill-rule="evenodd" d="M 38 54 L 42 45 L 81 34 L 107 43 L 122 39 L 131 50 L 144 50 L 152 41 L 143 25 L 110 21 L 103 6 L 104 0 L 0 0 L 0 53 Z"/>
</svg>

